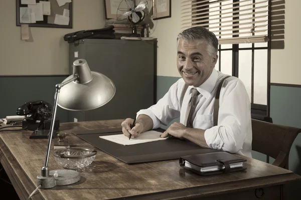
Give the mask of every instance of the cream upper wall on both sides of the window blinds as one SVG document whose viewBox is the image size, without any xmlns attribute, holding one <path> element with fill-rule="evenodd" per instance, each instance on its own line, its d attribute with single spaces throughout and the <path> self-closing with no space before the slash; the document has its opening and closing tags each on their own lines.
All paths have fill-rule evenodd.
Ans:
<svg viewBox="0 0 301 200">
<path fill-rule="evenodd" d="M 172 0 L 172 17 L 154 20 L 156 28 L 149 35 L 158 38 L 158 75 L 180 77 L 176 66 L 180 6 L 180 0 Z M 285 1 L 284 49 L 271 50 L 271 82 L 301 84 L 301 27 L 295 23 L 300 7 L 301 0 Z"/>
</svg>

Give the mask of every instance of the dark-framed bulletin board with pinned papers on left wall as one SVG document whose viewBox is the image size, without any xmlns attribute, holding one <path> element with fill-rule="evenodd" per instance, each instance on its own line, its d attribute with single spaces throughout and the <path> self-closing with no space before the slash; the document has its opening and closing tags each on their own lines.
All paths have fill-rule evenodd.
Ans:
<svg viewBox="0 0 301 200">
<path fill-rule="evenodd" d="M 16 0 L 17 26 L 72 28 L 72 0 Z"/>
</svg>

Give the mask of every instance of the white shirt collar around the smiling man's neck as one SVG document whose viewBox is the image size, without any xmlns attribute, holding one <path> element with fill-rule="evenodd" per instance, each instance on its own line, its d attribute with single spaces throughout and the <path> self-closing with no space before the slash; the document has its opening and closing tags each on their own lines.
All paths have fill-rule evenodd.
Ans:
<svg viewBox="0 0 301 200">
<path fill-rule="evenodd" d="M 211 96 L 211 92 L 213 91 L 216 81 L 218 78 L 218 72 L 216 71 L 215 68 L 213 68 L 211 75 L 209 76 L 209 78 L 207 78 L 207 80 L 205 82 L 203 82 L 203 84 L 201 84 L 197 88 L 197 90 L 200 92 L 200 94 L 202 94 L 203 96 L 205 96 L 206 98 L 209 98 Z M 191 93 L 191 88 L 193 88 L 194 86 L 189 85 L 188 89 L 189 89 L 189 93 Z"/>
</svg>

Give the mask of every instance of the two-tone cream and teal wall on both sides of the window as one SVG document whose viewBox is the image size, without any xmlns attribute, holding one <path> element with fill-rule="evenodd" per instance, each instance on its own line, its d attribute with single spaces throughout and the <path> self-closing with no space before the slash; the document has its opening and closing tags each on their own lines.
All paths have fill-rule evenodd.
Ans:
<svg viewBox="0 0 301 200">
<path fill-rule="evenodd" d="M 176 66 L 176 38 L 181 31 L 180 4 L 180 1 L 173 0 L 172 17 L 154 20 L 154 29 L 149 34 L 149 36 L 158 37 L 157 99 L 161 98 L 180 77 Z M 301 40 L 297 37 L 300 27 L 296 27 L 294 23 L 295 18 L 299 17 L 296 13 L 300 6 L 299 0 L 285 1 L 285 46 L 283 49 L 271 50 L 271 82 L 273 83 L 301 84 L 301 78 L 299 78 L 301 67 L 298 59 L 298 46 L 301 46 Z M 273 122 L 301 127 L 301 106 L 299 105 L 301 87 L 272 85 L 270 96 L 270 115 Z M 266 156 L 261 153 L 253 151 L 252 155 L 256 159 L 265 161 Z M 289 168 L 301 174 L 301 134 L 295 139 L 289 156 Z M 270 159 L 270 162 L 272 161 L 273 159 Z"/>
</svg>

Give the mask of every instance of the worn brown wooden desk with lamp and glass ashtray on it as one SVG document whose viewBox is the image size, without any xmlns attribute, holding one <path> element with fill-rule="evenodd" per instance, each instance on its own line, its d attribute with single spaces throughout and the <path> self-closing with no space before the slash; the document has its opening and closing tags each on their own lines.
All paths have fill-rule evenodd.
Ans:
<svg viewBox="0 0 301 200">
<path fill-rule="evenodd" d="M 120 127 L 120 120 L 62 123 L 69 141 L 91 145 L 71 130 Z M 1 163 L 21 199 L 36 188 L 44 165 L 47 139 L 29 139 L 31 131 L 0 132 Z M 51 148 L 53 149 L 53 148 Z M 247 158 L 247 157 L 246 157 Z M 32 199 L 281 199 L 282 184 L 300 179 L 292 171 L 247 158 L 247 170 L 214 176 L 185 171 L 179 160 L 128 165 L 98 151 L 95 160 L 81 172 L 78 183 L 39 189 Z M 62 168 L 50 154 L 50 170 Z"/>
</svg>

